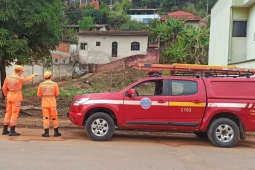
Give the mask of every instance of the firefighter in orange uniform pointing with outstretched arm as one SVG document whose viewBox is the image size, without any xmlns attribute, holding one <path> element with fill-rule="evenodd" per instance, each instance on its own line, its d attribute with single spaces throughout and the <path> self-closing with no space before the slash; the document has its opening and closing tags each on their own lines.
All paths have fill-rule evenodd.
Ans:
<svg viewBox="0 0 255 170">
<path fill-rule="evenodd" d="M 6 77 L 3 85 L 3 93 L 6 101 L 6 114 L 4 117 L 4 129 L 2 135 L 19 136 L 20 133 L 15 131 L 17 119 L 23 100 L 22 85 L 25 82 L 32 80 L 37 74 L 28 77 L 23 77 L 24 68 L 20 65 L 15 66 L 15 73 Z M 8 126 L 11 126 L 10 132 Z"/>
</svg>

